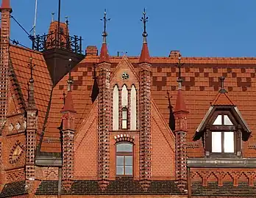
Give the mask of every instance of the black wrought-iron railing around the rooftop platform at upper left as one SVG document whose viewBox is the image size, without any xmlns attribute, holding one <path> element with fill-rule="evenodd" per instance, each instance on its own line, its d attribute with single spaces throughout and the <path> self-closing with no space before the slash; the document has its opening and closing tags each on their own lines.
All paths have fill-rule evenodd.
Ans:
<svg viewBox="0 0 256 198">
<path fill-rule="evenodd" d="M 60 31 L 52 31 L 49 34 L 37 35 L 32 38 L 32 49 L 36 51 L 46 51 L 51 48 L 62 48 L 76 54 L 82 54 L 82 37 L 73 36 Z"/>
</svg>

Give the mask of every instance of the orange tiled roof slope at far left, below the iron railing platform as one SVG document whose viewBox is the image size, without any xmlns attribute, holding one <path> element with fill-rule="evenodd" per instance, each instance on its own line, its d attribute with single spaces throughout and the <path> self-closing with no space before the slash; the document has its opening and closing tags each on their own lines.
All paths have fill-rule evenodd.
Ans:
<svg viewBox="0 0 256 198">
<path fill-rule="evenodd" d="M 43 54 L 27 48 L 10 45 L 10 59 L 12 61 L 15 76 L 21 87 L 21 92 L 26 100 L 28 98 L 28 82 L 30 78 L 29 58 L 32 56 L 35 106 L 38 109 L 38 134 L 43 131 L 43 123 L 46 117 L 49 98 L 51 95 L 51 77 L 47 69 Z M 39 139 L 40 136 L 38 136 Z"/>
</svg>

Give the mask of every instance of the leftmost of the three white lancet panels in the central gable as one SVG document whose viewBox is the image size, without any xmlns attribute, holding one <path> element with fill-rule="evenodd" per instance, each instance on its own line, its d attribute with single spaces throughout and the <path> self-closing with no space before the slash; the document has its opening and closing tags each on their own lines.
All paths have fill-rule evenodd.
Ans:
<svg viewBox="0 0 256 198">
<path fill-rule="evenodd" d="M 119 119 L 119 97 L 118 97 L 118 86 L 115 85 L 113 90 L 113 131 L 118 130 L 118 119 Z"/>
</svg>

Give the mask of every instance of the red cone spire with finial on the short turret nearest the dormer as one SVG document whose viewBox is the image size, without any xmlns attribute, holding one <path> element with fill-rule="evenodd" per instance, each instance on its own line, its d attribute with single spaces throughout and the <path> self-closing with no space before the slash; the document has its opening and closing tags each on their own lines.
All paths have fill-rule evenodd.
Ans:
<svg viewBox="0 0 256 198">
<path fill-rule="evenodd" d="M 188 110 L 185 105 L 185 100 L 182 95 L 182 77 L 181 77 L 181 67 L 184 65 L 184 63 L 181 63 L 181 56 L 179 56 L 179 62 L 177 62 L 177 67 L 179 68 L 179 76 L 177 79 L 178 82 L 178 92 L 177 92 L 177 99 L 176 99 L 176 106 L 174 114 L 177 112 L 186 112 L 188 113 Z"/>
</svg>

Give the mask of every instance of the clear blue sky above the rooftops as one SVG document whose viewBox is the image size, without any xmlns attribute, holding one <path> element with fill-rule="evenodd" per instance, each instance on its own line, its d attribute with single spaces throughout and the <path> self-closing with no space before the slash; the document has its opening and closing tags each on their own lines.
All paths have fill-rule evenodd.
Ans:
<svg viewBox="0 0 256 198">
<path fill-rule="evenodd" d="M 13 16 L 26 30 L 32 28 L 35 0 L 11 0 Z M 48 32 L 51 12 L 57 20 L 58 0 L 38 0 L 37 33 Z M 110 55 L 127 51 L 128 56 L 141 52 L 146 7 L 149 23 L 149 51 L 152 56 L 168 56 L 179 50 L 182 56 L 255 56 L 255 0 L 62 0 L 62 21 L 70 21 L 71 34 L 82 36 L 83 49 L 102 42 L 104 9 L 111 18 L 107 24 Z M 31 46 L 26 34 L 12 20 L 11 39 Z"/>
</svg>

